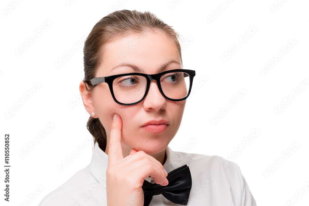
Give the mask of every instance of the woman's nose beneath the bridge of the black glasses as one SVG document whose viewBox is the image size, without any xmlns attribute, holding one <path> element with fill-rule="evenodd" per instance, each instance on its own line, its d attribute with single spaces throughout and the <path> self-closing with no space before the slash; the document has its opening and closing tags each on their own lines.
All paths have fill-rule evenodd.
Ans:
<svg viewBox="0 0 309 206">
<path fill-rule="evenodd" d="M 150 81 L 150 87 L 143 100 L 143 106 L 146 111 L 159 111 L 166 108 L 166 99 L 162 96 L 155 80 Z"/>
</svg>

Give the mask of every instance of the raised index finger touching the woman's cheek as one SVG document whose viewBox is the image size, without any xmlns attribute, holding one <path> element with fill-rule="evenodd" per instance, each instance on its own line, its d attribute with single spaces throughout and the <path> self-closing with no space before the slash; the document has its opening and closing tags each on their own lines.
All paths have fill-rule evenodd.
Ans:
<svg viewBox="0 0 309 206">
<path fill-rule="evenodd" d="M 111 166 L 123 160 L 122 146 L 121 146 L 121 128 L 122 128 L 121 117 L 115 113 L 112 122 L 112 129 L 109 137 L 109 146 L 108 146 L 108 165 Z"/>
</svg>

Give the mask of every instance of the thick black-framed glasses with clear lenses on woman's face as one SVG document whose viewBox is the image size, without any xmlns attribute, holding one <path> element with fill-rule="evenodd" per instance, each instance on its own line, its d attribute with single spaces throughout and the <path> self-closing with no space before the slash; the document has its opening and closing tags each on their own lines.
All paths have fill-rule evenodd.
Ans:
<svg viewBox="0 0 309 206">
<path fill-rule="evenodd" d="M 171 101 L 185 100 L 190 94 L 194 76 L 194 70 L 172 69 L 158 74 L 125 73 L 96 77 L 87 81 L 87 83 L 95 86 L 106 82 L 114 101 L 120 105 L 130 106 L 145 99 L 152 80 L 157 82 L 165 99 Z"/>
</svg>

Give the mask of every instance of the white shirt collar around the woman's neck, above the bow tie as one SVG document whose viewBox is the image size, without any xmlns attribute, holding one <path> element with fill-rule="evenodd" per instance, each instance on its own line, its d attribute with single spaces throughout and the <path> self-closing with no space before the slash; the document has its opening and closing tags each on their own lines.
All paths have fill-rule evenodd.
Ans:
<svg viewBox="0 0 309 206">
<path fill-rule="evenodd" d="M 180 156 L 171 150 L 169 146 L 165 149 L 166 161 L 163 168 L 167 173 L 180 167 Z M 101 183 L 101 185 L 106 189 L 106 169 L 108 164 L 108 155 L 99 148 L 98 142 L 95 142 L 95 147 L 93 150 L 91 162 L 89 164 L 89 169 L 91 173 L 95 176 L 95 179 Z M 153 181 L 152 177 L 148 177 L 145 180 L 148 182 Z"/>
</svg>

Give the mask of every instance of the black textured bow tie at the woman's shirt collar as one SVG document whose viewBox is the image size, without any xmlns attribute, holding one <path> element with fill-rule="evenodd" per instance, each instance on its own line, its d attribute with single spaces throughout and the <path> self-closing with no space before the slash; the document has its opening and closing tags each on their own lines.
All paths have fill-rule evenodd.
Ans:
<svg viewBox="0 0 309 206">
<path fill-rule="evenodd" d="M 187 205 L 191 187 L 192 178 L 187 165 L 178 167 L 167 174 L 168 185 L 162 186 L 156 183 L 150 183 L 144 180 L 144 206 L 148 206 L 153 195 L 162 194 L 166 199 L 176 204 Z"/>
</svg>

